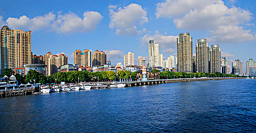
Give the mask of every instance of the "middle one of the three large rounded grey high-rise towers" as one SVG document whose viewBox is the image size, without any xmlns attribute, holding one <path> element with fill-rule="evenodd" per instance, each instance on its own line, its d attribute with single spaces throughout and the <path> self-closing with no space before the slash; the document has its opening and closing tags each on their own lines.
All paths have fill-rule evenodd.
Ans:
<svg viewBox="0 0 256 133">
<path fill-rule="evenodd" d="M 209 73 L 209 44 L 206 39 L 198 39 L 196 43 L 196 72 Z"/>
</svg>

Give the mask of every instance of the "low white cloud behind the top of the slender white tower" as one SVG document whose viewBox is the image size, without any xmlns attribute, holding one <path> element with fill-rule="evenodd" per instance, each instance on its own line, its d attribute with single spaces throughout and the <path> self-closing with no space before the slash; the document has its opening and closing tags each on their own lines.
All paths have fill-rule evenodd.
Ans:
<svg viewBox="0 0 256 133">
<path fill-rule="evenodd" d="M 166 47 L 175 47 L 176 40 L 178 36 L 164 36 L 159 35 L 158 32 L 156 32 L 155 35 L 148 35 L 146 34 L 141 38 L 141 43 L 143 45 L 148 45 L 149 40 L 154 40 L 156 44 L 159 44 L 159 48 L 166 48 Z"/>
</svg>

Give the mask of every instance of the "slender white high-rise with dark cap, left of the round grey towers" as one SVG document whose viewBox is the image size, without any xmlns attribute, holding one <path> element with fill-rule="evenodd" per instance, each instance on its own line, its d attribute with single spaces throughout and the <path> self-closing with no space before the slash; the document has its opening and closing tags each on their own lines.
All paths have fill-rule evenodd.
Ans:
<svg viewBox="0 0 256 133">
<path fill-rule="evenodd" d="M 148 44 L 148 67 L 159 67 L 159 44 L 150 40 Z"/>
</svg>

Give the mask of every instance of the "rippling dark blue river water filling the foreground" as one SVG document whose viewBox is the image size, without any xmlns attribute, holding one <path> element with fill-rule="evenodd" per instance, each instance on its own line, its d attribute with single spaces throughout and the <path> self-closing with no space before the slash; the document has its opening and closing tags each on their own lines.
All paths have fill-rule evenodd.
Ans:
<svg viewBox="0 0 256 133">
<path fill-rule="evenodd" d="M 256 80 L 0 98 L 0 132 L 255 132 Z"/>
</svg>

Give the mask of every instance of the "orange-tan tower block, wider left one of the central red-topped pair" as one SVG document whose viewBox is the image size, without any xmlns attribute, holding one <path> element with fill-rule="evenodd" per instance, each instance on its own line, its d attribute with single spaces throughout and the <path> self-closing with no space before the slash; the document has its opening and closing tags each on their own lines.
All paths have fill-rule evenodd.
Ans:
<svg viewBox="0 0 256 133">
<path fill-rule="evenodd" d="M 91 67 L 92 62 L 92 52 L 85 49 L 84 51 L 76 50 L 73 52 L 74 55 L 74 64 L 77 64 L 78 67 Z"/>
</svg>

